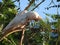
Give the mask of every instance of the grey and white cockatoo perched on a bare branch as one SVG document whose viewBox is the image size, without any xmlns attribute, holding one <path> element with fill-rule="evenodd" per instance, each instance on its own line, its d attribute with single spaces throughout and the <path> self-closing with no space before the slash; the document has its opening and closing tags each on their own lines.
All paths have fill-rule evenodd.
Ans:
<svg viewBox="0 0 60 45">
<path fill-rule="evenodd" d="M 4 35 L 6 32 L 14 30 L 17 27 L 20 27 L 22 29 L 31 20 L 37 21 L 40 19 L 41 17 L 37 12 L 24 10 L 21 13 L 17 14 L 15 18 L 13 18 L 13 20 L 2 30 L 2 34 Z"/>
</svg>

